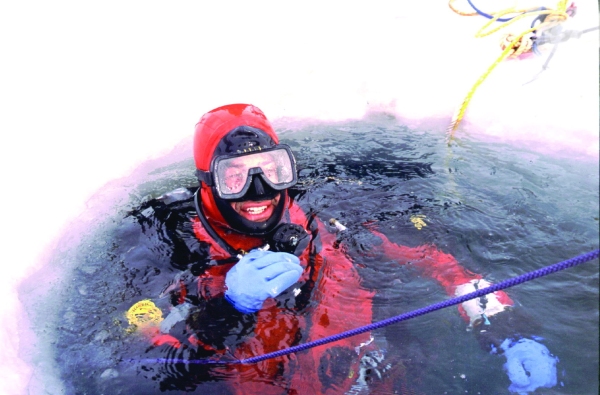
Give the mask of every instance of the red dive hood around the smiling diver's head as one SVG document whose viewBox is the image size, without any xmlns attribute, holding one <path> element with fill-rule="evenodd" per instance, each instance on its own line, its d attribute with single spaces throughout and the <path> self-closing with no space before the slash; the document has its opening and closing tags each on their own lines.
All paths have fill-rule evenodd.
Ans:
<svg viewBox="0 0 600 395">
<path fill-rule="evenodd" d="M 194 134 L 194 161 L 196 169 L 203 171 L 210 170 L 214 151 L 221 139 L 240 126 L 250 126 L 260 129 L 269 135 L 276 144 L 279 143 L 279 139 L 269 120 L 258 107 L 250 104 L 229 104 L 219 107 L 204 114 L 196 124 L 196 133 Z M 287 193 L 283 191 L 281 197 L 285 199 L 285 205 L 287 206 L 289 204 Z M 200 200 L 206 219 L 220 236 L 223 236 L 226 230 L 232 229 L 217 208 L 212 188 L 204 183 L 201 184 Z M 237 238 L 239 240 L 236 241 L 235 237 L 229 235 L 227 241 L 232 247 L 243 249 L 250 248 L 250 246 L 244 244 L 259 243 L 256 238 L 247 237 L 247 235 L 243 236 Z"/>
</svg>

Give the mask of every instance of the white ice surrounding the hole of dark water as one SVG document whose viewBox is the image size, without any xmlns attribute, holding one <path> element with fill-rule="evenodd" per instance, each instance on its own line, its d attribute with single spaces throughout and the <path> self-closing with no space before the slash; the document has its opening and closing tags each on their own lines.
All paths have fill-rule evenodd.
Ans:
<svg viewBox="0 0 600 395">
<path fill-rule="evenodd" d="M 576 3 L 565 28 L 597 26 L 597 2 Z M 443 139 L 500 54 L 502 32 L 474 37 L 485 22 L 452 13 L 445 1 L 3 2 L 0 392 L 60 388 L 39 369 L 44 361 L 19 351 L 32 339 L 17 320 L 16 286 L 106 182 L 169 151 L 204 112 L 233 102 L 273 120 L 384 110 Z M 561 44 L 526 84 L 548 54 L 500 64 L 457 134 L 597 161 L 598 32 Z"/>
</svg>

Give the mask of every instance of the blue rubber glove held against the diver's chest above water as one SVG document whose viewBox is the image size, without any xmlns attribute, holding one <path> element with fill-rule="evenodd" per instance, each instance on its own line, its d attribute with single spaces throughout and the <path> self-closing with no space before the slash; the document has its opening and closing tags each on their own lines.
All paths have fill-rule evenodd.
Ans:
<svg viewBox="0 0 600 395">
<path fill-rule="evenodd" d="M 240 312 L 254 313 L 265 299 L 274 298 L 302 275 L 298 257 L 287 252 L 253 250 L 225 277 L 225 298 Z"/>
</svg>

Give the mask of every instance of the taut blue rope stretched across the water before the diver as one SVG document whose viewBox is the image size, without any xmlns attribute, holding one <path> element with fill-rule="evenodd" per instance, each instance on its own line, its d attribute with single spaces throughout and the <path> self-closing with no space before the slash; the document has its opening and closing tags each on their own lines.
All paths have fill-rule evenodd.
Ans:
<svg viewBox="0 0 600 395">
<path fill-rule="evenodd" d="M 503 290 L 505 288 L 509 288 L 509 287 L 513 287 L 515 285 L 518 284 L 522 284 L 524 282 L 539 278 L 539 277 L 544 277 L 547 276 L 548 274 L 552 274 L 561 270 L 565 270 L 568 269 L 570 267 L 573 266 L 577 266 L 580 265 L 582 263 L 597 259 L 598 256 L 600 255 L 600 250 L 595 250 L 592 252 L 588 252 L 586 254 L 583 255 L 579 255 L 576 256 L 574 258 L 568 259 L 566 261 L 563 262 L 559 262 L 556 263 L 554 265 L 550 265 L 547 266 L 545 268 L 542 269 L 538 269 L 538 270 L 534 270 L 532 272 L 529 273 L 525 273 L 522 274 L 520 276 L 517 277 L 513 277 L 513 278 L 509 278 L 508 280 L 504 280 L 502 282 L 499 282 L 497 284 L 493 284 L 487 288 L 482 288 L 479 289 L 475 292 L 471 292 L 462 296 L 458 296 L 456 298 L 453 299 L 449 299 L 443 302 L 439 302 L 439 303 L 435 303 L 432 305 L 429 305 L 427 307 L 423 307 L 417 310 L 413 310 L 410 311 L 408 313 L 404 313 L 392 318 L 388 318 L 386 320 L 383 321 L 379 321 L 379 322 L 375 322 L 373 324 L 369 324 L 369 325 L 365 325 L 362 326 L 360 328 L 356 328 L 356 329 L 352 329 L 346 332 L 342 332 L 342 333 L 338 333 L 336 335 L 332 335 L 332 336 L 328 336 L 328 337 L 324 337 L 322 339 L 319 340 L 315 340 L 312 342 L 308 342 L 308 343 L 304 343 L 304 344 L 300 344 L 297 346 L 293 346 L 293 347 L 289 347 L 283 350 L 279 350 L 279 351 L 274 351 L 274 352 L 270 352 L 267 354 L 263 354 L 263 355 L 258 355 L 255 357 L 251 357 L 251 358 L 246 358 L 246 359 L 240 359 L 240 360 L 232 360 L 232 361 L 223 361 L 223 360 L 210 360 L 210 359 L 192 359 L 192 360 L 184 360 L 184 359 L 176 359 L 176 358 L 156 358 L 156 359 L 146 359 L 144 361 L 146 362 L 155 362 L 155 363 L 160 363 L 160 362 L 168 362 L 168 363 L 186 363 L 186 364 L 216 364 L 216 365 L 238 365 L 238 364 L 252 364 L 252 363 L 257 363 L 257 362 L 261 362 L 264 361 L 266 359 L 271 359 L 271 358 L 277 358 L 277 357 L 281 357 L 284 355 L 288 355 L 288 354 L 292 354 L 292 353 L 297 353 L 300 351 L 304 351 L 307 350 L 309 348 L 313 348 L 313 347 L 317 347 L 317 346 L 322 346 L 324 344 L 327 343 L 331 343 L 334 341 L 338 341 L 338 340 L 342 340 L 345 339 L 347 337 L 352 337 L 352 336 L 356 336 L 359 335 L 361 333 L 365 333 L 365 332 L 370 332 L 373 331 L 375 329 L 379 329 L 379 328 L 383 328 L 385 326 L 388 325 L 392 325 L 401 321 L 405 321 L 411 318 L 415 318 L 415 317 L 419 317 L 421 315 L 425 315 L 428 313 L 431 313 L 433 311 L 436 310 L 440 310 L 446 307 L 450 307 L 450 306 L 454 306 L 463 302 L 466 302 L 468 300 L 471 299 L 475 299 L 475 298 L 479 298 L 481 296 L 496 292 L 496 291 L 500 291 Z"/>
</svg>

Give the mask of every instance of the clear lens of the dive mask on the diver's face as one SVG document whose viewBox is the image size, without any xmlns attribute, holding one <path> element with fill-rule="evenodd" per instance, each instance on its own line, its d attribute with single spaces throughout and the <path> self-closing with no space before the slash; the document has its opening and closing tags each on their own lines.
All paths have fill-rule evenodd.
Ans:
<svg viewBox="0 0 600 395">
<path fill-rule="evenodd" d="M 259 173 L 272 187 L 289 188 L 296 176 L 292 163 L 291 153 L 285 148 L 218 159 L 213 170 L 215 184 L 222 198 L 241 197 L 250 185 L 250 176 Z"/>
</svg>

